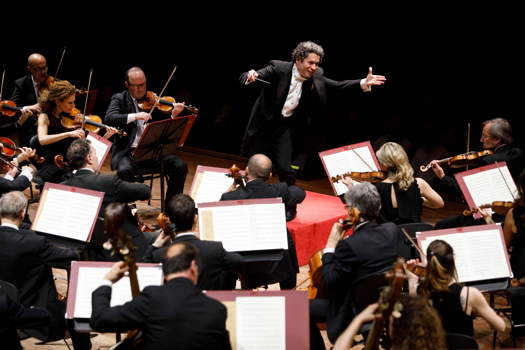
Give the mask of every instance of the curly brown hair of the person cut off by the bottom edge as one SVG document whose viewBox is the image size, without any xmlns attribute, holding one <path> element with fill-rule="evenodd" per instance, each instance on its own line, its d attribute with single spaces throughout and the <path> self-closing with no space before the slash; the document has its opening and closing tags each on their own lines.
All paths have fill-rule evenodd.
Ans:
<svg viewBox="0 0 525 350">
<path fill-rule="evenodd" d="M 401 317 L 393 318 L 392 349 L 446 349 L 445 331 L 430 301 L 421 296 L 403 296 Z"/>
</svg>

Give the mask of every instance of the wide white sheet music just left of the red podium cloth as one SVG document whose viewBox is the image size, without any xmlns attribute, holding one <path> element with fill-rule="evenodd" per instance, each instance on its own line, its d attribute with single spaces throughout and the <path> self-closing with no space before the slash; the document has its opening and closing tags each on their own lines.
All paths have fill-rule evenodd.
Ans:
<svg viewBox="0 0 525 350">
<path fill-rule="evenodd" d="M 201 211 L 211 211 L 212 215 L 201 215 Z M 203 217 L 211 217 L 211 225 L 202 222 Z M 213 237 L 230 252 L 288 249 L 283 203 L 199 209 L 199 227 L 203 239 Z"/>
</svg>

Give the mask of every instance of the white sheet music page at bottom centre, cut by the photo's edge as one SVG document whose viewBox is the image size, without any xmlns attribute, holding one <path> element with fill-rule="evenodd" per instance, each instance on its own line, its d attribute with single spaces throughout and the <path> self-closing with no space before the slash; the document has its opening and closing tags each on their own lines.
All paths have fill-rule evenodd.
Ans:
<svg viewBox="0 0 525 350">
<path fill-rule="evenodd" d="M 237 297 L 237 349 L 286 348 L 286 299 L 274 297 Z"/>
</svg>

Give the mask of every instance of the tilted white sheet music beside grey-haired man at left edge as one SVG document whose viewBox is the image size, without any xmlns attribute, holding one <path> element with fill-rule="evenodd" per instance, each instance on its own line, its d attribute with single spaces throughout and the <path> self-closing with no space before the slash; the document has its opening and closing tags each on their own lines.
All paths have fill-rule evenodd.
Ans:
<svg viewBox="0 0 525 350">
<path fill-rule="evenodd" d="M 102 197 L 49 188 L 40 203 L 38 220 L 31 227 L 66 238 L 87 241 Z"/>
</svg>

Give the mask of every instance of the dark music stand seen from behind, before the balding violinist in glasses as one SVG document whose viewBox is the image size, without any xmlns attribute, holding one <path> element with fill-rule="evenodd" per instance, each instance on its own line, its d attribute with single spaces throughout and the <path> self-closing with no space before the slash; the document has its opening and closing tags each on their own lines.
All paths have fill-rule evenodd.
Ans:
<svg viewBox="0 0 525 350">
<path fill-rule="evenodd" d="M 184 145 L 196 117 L 192 114 L 147 124 L 133 153 L 136 162 L 150 159 L 160 161 L 162 212 L 164 212 L 164 156 L 174 154 Z"/>
</svg>

